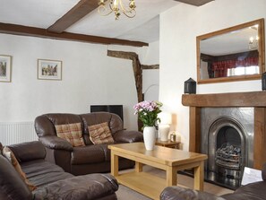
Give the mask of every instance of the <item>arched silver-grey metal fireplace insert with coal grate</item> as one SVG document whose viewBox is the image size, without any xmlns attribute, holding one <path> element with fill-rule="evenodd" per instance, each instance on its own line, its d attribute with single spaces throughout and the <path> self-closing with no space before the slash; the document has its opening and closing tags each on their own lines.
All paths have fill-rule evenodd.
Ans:
<svg viewBox="0 0 266 200">
<path fill-rule="evenodd" d="M 244 167 L 253 167 L 253 113 L 253 108 L 201 109 L 201 152 L 208 155 L 208 180 L 236 188 Z"/>
</svg>

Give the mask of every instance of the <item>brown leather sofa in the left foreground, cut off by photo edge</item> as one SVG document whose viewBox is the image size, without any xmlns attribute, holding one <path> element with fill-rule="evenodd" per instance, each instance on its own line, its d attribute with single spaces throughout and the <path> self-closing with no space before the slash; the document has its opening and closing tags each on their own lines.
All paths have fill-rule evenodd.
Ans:
<svg viewBox="0 0 266 200">
<path fill-rule="evenodd" d="M 107 174 L 74 177 L 45 161 L 46 151 L 38 141 L 10 145 L 21 170 L 37 189 L 30 191 L 12 163 L 0 153 L 0 199 L 3 200 L 112 200 L 117 199 L 116 179 Z"/>
</svg>

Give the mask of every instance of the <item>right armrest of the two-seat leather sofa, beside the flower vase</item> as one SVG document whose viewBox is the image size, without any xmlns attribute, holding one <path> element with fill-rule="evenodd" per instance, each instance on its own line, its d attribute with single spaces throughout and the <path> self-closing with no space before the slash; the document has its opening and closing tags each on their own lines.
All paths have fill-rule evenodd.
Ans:
<svg viewBox="0 0 266 200">
<path fill-rule="evenodd" d="M 136 143 L 143 141 L 143 134 L 139 131 L 121 130 L 113 136 L 116 143 Z"/>
</svg>

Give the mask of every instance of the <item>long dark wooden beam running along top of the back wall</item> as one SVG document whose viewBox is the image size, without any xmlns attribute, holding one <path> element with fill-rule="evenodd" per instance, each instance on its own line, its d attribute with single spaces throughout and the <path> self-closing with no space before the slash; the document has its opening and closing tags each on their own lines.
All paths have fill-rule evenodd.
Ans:
<svg viewBox="0 0 266 200">
<path fill-rule="evenodd" d="M 0 33 L 22 35 L 22 36 L 32 36 L 32 37 L 39 37 L 39 38 L 45 38 L 45 39 L 63 39 L 63 40 L 81 41 L 81 42 L 98 43 L 98 44 L 106 44 L 106 45 L 114 44 L 114 45 L 126 45 L 126 46 L 133 46 L 133 47 L 149 46 L 148 43 L 141 42 L 141 41 L 104 38 L 104 37 L 76 34 L 76 33 L 70 33 L 70 32 L 62 32 L 58 34 L 55 32 L 49 32 L 45 29 L 29 27 L 29 26 L 21 26 L 21 25 L 16 25 L 16 24 L 9 24 L 9 23 L 1 23 L 1 22 L 0 22 Z"/>
</svg>

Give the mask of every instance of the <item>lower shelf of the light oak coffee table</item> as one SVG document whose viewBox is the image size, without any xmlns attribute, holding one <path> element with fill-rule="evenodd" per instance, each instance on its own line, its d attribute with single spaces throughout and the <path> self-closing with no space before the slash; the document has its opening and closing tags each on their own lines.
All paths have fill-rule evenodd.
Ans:
<svg viewBox="0 0 266 200">
<path fill-rule="evenodd" d="M 146 172 L 128 172 L 115 177 L 119 184 L 149 196 L 151 199 L 159 199 L 160 193 L 167 187 L 166 179 L 159 178 Z"/>
</svg>

